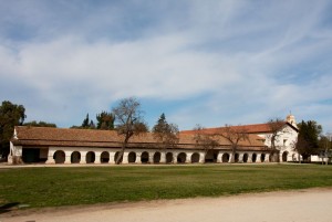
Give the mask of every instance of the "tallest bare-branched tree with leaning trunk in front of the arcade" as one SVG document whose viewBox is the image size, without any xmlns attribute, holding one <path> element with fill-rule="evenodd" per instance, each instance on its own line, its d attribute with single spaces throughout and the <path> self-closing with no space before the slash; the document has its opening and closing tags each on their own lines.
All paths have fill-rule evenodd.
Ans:
<svg viewBox="0 0 332 222">
<path fill-rule="evenodd" d="M 122 161 L 124 151 L 133 136 L 138 136 L 148 130 L 144 123 L 141 104 L 134 98 L 124 98 L 120 101 L 118 105 L 112 109 L 115 116 L 117 134 L 123 137 L 122 149 L 115 162 L 118 165 Z"/>
</svg>

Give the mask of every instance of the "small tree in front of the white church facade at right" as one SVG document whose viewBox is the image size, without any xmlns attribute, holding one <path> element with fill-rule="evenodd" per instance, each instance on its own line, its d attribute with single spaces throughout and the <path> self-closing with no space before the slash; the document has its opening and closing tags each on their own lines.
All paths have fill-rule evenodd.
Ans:
<svg viewBox="0 0 332 222">
<path fill-rule="evenodd" d="M 280 147 L 277 146 L 276 144 L 279 142 L 279 137 L 283 133 L 283 127 L 284 127 L 284 120 L 280 118 L 276 119 L 270 119 L 267 125 L 269 126 L 270 134 L 267 135 L 267 139 L 270 140 L 271 142 L 271 149 L 270 149 L 270 156 L 274 158 L 277 156 L 277 161 L 279 162 L 279 152 L 280 152 Z"/>
</svg>

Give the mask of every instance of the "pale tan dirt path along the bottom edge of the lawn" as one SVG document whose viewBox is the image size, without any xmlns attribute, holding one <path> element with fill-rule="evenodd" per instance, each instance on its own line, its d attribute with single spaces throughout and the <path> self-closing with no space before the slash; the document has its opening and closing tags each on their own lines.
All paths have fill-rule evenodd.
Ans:
<svg viewBox="0 0 332 222">
<path fill-rule="evenodd" d="M 0 214 L 0 222 L 331 222 L 332 189 L 149 201 Z"/>
</svg>

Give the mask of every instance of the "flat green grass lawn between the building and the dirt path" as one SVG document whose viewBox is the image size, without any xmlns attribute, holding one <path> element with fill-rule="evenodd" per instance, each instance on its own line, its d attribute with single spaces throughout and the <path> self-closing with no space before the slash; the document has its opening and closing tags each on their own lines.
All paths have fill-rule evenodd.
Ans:
<svg viewBox="0 0 332 222">
<path fill-rule="evenodd" d="M 0 169 L 0 209 L 332 187 L 332 166 L 197 165 Z"/>
</svg>

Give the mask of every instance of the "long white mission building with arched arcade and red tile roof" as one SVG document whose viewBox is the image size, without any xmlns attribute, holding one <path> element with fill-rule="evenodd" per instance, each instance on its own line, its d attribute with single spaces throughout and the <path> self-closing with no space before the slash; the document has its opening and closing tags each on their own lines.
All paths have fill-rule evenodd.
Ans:
<svg viewBox="0 0 332 222">
<path fill-rule="evenodd" d="M 288 119 L 289 120 L 289 119 Z M 247 125 L 248 140 L 239 142 L 236 162 L 269 162 L 269 134 L 266 124 Z M 262 130 L 263 129 L 263 130 Z M 298 155 L 290 148 L 297 138 L 297 128 L 286 121 L 281 138 L 280 159 L 294 161 Z M 179 134 L 174 147 L 163 147 L 151 133 L 135 136 L 126 148 L 122 163 L 204 163 L 230 162 L 230 142 L 218 137 L 219 146 L 205 150 L 193 131 Z M 17 126 L 10 145 L 10 163 L 108 163 L 114 165 L 123 138 L 114 130 L 66 129 Z"/>
</svg>

